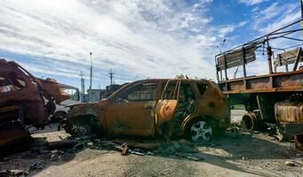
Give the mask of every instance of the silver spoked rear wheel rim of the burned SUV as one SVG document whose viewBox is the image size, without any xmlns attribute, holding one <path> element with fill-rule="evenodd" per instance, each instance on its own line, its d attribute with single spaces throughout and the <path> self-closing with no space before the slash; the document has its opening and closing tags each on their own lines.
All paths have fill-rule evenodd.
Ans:
<svg viewBox="0 0 303 177">
<path fill-rule="evenodd" d="M 206 122 L 200 120 L 190 128 L 190 132 L 194 142 L 209 141 L 212 135 L 212 128 L 207 127 Z"/>
</svg>

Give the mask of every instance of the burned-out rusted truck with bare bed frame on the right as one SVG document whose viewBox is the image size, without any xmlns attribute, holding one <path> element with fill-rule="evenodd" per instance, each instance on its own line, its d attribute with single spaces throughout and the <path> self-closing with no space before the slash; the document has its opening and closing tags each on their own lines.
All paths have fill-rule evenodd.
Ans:
<svg viewBox="0 0 303 177">
<path fill-rule="evenodd" d="M 295 133 L 303 132 L 303 67 L 299 66 L 303 61 L 300 47 L 303 40 L 295 38 L 302 32 L 301 21 L 299 19 L 215 57 L 219 88 L 228 97 L 229 104 L 243 104 L 249 112 L 243 116 L 243 128 L 257 130 L 264 127 L 264 123 L 278 123 L 282 138 L 293 138 Z M 281 39 L 290 41 L 291 46 L 285 46 Z M 283 47 L 275 47 L 277 44 Z M 265 50 L 268 74 L 249 75 L 247 65 L 261 56 L 258 52 L 264 53 Z M 229 79 L 227 69 L 240 66 L 243 76 Z M 284 71 L 277 72 L 281 66 Z"/>
</svg>

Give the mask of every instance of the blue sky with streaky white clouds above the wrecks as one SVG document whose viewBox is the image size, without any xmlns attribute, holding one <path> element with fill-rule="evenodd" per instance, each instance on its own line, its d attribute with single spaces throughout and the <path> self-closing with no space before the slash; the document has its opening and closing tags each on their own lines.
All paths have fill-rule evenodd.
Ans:
<svg viewBox="0 0 303 177">
<path fill-rule="evenodd" d="M 93 88 L 146 78 L 215 78 L 214 55 L 300 18 L 299 0 L 2 0 L 0 58 Z M 265 61 L 265 60 L 264 60 Z M 263 60 L 252 73 L 264 73 Z"/>
</svg>

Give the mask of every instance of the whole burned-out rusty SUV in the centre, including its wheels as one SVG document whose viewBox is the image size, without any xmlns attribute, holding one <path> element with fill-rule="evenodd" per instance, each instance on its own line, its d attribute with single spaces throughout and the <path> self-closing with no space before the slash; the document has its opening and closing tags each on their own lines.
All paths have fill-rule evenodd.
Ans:
<svg viewBox="0 0 303 177">
<path fill-rule="evenodd" d="M 64 122 L 71 135 L 190 137 L 209 140 L 230 122 L 230 109 L 213 81 L 135 81 L 107 99 L 75 105 Z"/>
</svg>

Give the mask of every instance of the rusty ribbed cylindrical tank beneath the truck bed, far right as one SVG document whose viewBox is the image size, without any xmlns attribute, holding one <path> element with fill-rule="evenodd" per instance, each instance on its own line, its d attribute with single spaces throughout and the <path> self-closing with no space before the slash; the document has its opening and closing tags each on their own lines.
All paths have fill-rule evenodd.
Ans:
<svg viewBox="0 0 303 177">
<path fill-rule="evenodd" d="M 276 103 L 275 120 L 278 123 L 303 123 L 303 102 Z"/>
</svg>

